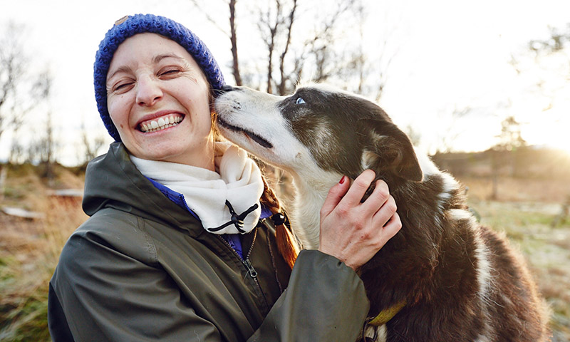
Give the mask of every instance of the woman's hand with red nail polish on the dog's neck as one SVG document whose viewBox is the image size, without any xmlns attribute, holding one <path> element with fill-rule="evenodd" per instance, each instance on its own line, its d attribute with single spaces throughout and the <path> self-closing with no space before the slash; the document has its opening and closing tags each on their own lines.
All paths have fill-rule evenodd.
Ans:
<svg viewBox="0 0 570 342">
<path fill-rule="evenodd" d="M 350 185 L 344 176 L 331 187 L 321 209 L 318 250 L 356 271 L 366 264 L 402 227 L 388 185 L 376 181 L 370 197 L 361 203 L 375 173 L 366 170 Z"/>
</svg>

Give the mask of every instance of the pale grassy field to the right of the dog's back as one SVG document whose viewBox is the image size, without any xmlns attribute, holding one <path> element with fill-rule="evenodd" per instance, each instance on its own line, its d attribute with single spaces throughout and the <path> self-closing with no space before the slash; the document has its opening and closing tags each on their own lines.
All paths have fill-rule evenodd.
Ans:
<svg viewBox="0 0 570 342">
<path fill-rule="evenodd" d="M 570 217 L 564 222 L 559 219 L 570 185 L 504 179 L 499 180 L 502 200 L 489 201 L 490 181 L 462 182 L 470 188 L 470 207 L 480 221 L 504 232 L 527 260 L 551 309 L 552 341 L 570 341 Z"/>
</svg>

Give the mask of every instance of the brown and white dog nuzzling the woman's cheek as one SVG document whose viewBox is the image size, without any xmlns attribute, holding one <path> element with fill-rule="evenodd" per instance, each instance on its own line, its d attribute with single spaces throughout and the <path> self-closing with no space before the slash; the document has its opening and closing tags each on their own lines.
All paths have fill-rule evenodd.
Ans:
<svg viewBox="0 0 570 342">
<path fill-rule="evenodd" d="M 227 86 L 214 105 L 225 138 L 293 177 L 291 229 L 306 249 L 318 248 L 319 211 L 343 175 L 372 169 L 388 183 L 402 229 L 358 271 L 371 304 L 363 340 L 547 341 L 522 257 L 378 105 L 323 85 L 290 96 Z"/>
</svg>

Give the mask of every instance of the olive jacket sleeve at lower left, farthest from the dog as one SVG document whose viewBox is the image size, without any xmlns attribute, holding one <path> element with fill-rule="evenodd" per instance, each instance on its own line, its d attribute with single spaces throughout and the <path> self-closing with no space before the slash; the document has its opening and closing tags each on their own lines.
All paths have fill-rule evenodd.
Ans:
<svg viewBox="0 0 570 342">
<path fill-rule="evenodd" d="M 222 341 L 152 263 L 95 234 L 73 234 L 50 282 L 53 342 Z"/>
</svg>

